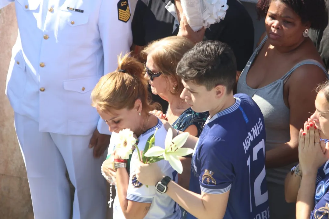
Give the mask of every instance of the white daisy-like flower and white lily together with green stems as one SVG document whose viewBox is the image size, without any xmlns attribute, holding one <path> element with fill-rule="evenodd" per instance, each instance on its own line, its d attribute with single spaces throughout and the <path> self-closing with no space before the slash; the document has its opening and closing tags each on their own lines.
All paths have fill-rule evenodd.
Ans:
<svg viewBox="0 0 329 219">
<path fill-rule="evenodd" d="M 121 159 L 128 159 L 129 155 L 133 153 L 133 146 L 135 146 L 139 160 L 144 164 L 166 160 L 174 170 L 178 173 L 182 173 L 183 166 L 178 157 L 193 153 L 193 149 L 191 148 L 182 148 L 189 137 L 189 133 L 184 132 L 173 139 L 172 130 L 170 128 L 164 140 L 165 148 L 162 148 L 154 145 L 156 132 L 157 129 L 154 134 L 148 138 L 142 152 L 142 157 L 140 157 L 139 148 L 136 144 L 137 139 L 134 138 L 134 133 L 129 129 L 123 129 L 118 133 L 117 142 L 115 144 L 115 154 L 118 154 Z"/>
</svg>

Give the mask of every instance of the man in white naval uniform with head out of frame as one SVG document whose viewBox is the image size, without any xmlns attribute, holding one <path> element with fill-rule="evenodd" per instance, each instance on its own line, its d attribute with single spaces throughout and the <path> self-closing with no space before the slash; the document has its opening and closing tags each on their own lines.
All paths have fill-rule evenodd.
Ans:
<svg viewBox="0 0 329 219">
<path fill-rule="evenodd" d="M 6 95 L 24 158 L 36 219 L 104 219 L 101 175 L 110 132 L 90 93 L 132 44 L 128 0 L 15 2 L 18 37 Z M 101 134 L 100 134 L 101 133 Z M 90 144 L 89 144 L 90 142 Z"/>
</svg>

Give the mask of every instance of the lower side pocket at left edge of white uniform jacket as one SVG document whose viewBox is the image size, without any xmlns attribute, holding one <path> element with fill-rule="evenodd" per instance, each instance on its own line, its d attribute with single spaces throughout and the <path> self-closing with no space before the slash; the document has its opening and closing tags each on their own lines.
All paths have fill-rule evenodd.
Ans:
<svg viewBox="0 0 329 219">
<path fill-rule="evenodd" d="M 26 80 L 26 64 L 22 51 L 19 51 L 10 62 L 7 75 L 7 89 L 9 89 L 16 98 L 21 98 L 24 95 Z"/>
</svg>

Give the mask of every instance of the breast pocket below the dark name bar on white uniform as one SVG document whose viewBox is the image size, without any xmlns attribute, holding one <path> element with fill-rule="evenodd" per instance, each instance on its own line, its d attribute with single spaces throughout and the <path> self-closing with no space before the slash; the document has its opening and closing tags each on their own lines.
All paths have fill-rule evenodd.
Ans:
<svg viewBox="0 0 329 219">
<path fill-rule="evenodd" d="M 56 38 L 59 43 L 76 45 L 86 42 L 86 34 L 90 31 L 87 13 L 76 11 L 60 11 Z"/>
</svg>

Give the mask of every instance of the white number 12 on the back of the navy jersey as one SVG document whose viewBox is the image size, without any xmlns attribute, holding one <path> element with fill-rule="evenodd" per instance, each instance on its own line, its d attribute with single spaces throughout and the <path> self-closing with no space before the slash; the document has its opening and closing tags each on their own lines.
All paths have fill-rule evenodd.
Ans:
<svg viewBox="0 0 329 219">
<path fill-rule="evenodd" d="M 252 161 L 256 161 L 258 160 L 258 152 L 260 150 L 263 149 L 263 157 L 262 159 L 265 159 L 265 141 L 264 139 L 262 139 L 261 142 L 259 142 L 256 146 L 253 147 L 252 149 Z M 264 164 L 264 168 L 262 169 L 262 171 L 258 174 L 258 176 L 256 177 L 256 179 L 251 179 L 250 175 L 251 175 L 251 172 L 250 172 L 250 167 L 252 165 L 253 162 L 250 161 L 250 156 L 251 154 L 249 155 L 248 157 L 248 160 L 247 160 L 247 166 L 249 168 L 249 194 L 250 194 L 250 212 L 252 212 L 252 201 L 255 202 L 255 206 L 259 206 L 263 203 L 265 203 L 268 199 L 268 193 L 267 193 L 267 190 L 264 194 L 262 194 L 261 192 L 261 185 L 262 185 L 262 182 L 265 180 L 265 164 Z M 254 200 L 252 200 L 252 195 L 251 195 L 251 186 L 253 186 L 253 192 L 254 192 Z"/>
</svg>

